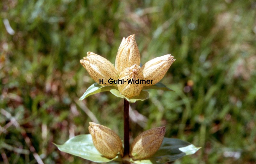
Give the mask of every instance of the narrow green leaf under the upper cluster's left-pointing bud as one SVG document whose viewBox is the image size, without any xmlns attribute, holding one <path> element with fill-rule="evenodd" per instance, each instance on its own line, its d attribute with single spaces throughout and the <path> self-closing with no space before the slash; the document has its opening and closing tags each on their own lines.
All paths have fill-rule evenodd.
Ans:
<svg viewBox="0 0 256 164">
<path fill-rule="evenodd" d="M 86 97 L 91 96 L 95 93 L 100 93 L 100 92 L 106 92 L 109 91 L 110 89 L 116 89 L 115 86 L 113 85 L 107 85 L 107 86 L 101 86 L 97 82 L 92 84 L 85 92 L 82 97 L 79 98 L 80 101 L 84 100 Z"/>
</svg>

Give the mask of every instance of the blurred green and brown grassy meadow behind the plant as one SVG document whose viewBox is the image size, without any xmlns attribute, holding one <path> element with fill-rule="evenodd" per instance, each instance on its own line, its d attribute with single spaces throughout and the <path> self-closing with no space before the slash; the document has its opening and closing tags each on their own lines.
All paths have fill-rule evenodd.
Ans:
<svg viewBox="0 0 256 164">
<path fill-rule="evenodd" d="M 123 99 L 78 101 L 94 83 L 79 60 L 114 63 L 130 34 L 142 64 L 176 59 L 161 81 L 175 92 L 131 104 L 131 136 L 164 125 L 202 147 L 175 164 L 256 161 L 254 0 L 5 0 L 0 29 L 0 162 L 90 163 L 52 144 L 89 133 L 89 121 L 123 139 Z"/>
</svg>

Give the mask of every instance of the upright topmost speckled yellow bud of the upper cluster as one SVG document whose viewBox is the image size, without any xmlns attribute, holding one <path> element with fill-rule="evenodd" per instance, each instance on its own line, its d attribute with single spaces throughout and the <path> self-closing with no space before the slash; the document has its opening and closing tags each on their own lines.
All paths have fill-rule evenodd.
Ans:
<svg viewBox="0 0 256 164">
<path fill-rule="evenodd" d="M 116 55 L 116 70 L 121 72 L 133 64 L 140 65 L 140 52 L 134 34 L 123 39 Z"/>
</svg>

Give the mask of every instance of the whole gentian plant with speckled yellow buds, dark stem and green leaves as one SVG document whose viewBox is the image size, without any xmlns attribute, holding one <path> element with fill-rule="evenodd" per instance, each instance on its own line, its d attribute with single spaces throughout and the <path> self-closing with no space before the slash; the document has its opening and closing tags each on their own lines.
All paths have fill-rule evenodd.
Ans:
<svg viewBox="0 0 256 164">
<path fill-rule="evenodd" d="M 123 38 L 117 51 L 115 66 L 92 52 L 80 60 L 96 82 L 79 99 L 95 93 L 110 91 L 124 98 L 124 146 L 122 139 L 106 126 L 89 123 L 90 134 L 78 135 L 63 145 L 60 151 L 93 162 L 165 163 L 194 154 L 200 148 L 180 139 L 165 138 L 165 127 L 156 127 L 138 135 L 130 146 L 129 103 L 148 98 L 148 89 L 172 91 L 159 81 L 175 61 L 171 54 L 157 57 L 140 67 L 140 52 L 135 36 Z"/>
</svg>

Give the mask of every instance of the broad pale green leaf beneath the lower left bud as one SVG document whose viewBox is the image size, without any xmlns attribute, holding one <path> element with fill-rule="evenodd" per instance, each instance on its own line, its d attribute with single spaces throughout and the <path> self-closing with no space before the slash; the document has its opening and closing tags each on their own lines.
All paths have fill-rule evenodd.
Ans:
<svg viewBox="0 0 256 164">
<path fill-rule="evenodd" d="M 93 162 L 109 162 L 118 159 L 118 155 L 113 159 L 103 157 L 100 152 L 95 148 L 92 142 L 91 134 L 82 134 L 71 139 L 68 139 L 63 145 L 57 145 L 58 149 L 86 160 Z"/>
</svg>

